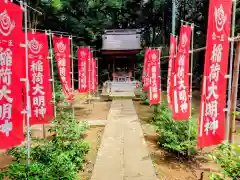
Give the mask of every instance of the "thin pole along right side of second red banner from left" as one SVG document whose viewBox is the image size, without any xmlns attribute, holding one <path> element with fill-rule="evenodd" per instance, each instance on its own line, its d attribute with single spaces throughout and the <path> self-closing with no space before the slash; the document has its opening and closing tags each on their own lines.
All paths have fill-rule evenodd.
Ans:
<svg viewBox="0 0 240 180">
<path fill-rule="evenodd" d="M 49 48 L 50 48 L 50 62 L 51 62 L 51 73 L 52 73 L 52 89 L 53 89 L 53 105 L 54 105 L 54 119 L 57 115 L 57 105 L 56 105 L 56 94 L 55 94 L 55 80 L 53 71 L 53 46 L 52 46 L 52 32 L 49 30 Z"/>
</svg>

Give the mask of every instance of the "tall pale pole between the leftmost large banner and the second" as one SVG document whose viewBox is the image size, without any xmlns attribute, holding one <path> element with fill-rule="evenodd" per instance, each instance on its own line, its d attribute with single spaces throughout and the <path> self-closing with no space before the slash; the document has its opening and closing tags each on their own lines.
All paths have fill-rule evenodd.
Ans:
<svg viewBox="0 0 240 180">
<path fill-rule="evenodd" d="M 31 137 L 30 137 L 30 96 L 29 96 L 29 79 L 28 79 L 28 12 L 27 4 L 24 2 L 24 26 L 25 26 L 25 65 L 26 65 L 26 122 L 27 122 L 27 166 L 30 165 L 30 155 L 31 155 Z"/>
</svg>

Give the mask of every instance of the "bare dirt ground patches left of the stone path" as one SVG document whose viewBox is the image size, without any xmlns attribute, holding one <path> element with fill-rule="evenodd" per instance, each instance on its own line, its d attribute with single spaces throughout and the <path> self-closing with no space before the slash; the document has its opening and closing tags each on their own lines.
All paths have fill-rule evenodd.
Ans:
<svg viewBox="0 0 240 180">
<path fill-rule="evenodd" d="M 92 101 L 91 104 L 84 105 L 84 108 L 76 109 L 75 114 L 78 120 L 106 120 L 111 102 Z M 97 151 L 101 144 L 101 137 L 104 127 L 90 127 L 86 131 L 85 140 L 90 145 L 90 151 L 86 157 L 84 171 L 79 173 L 83 180 L 89 180 L 96 160 Z M 42 125 L 32 128 L 34 137 L 42 138 Z M 49 134 L 47 134 L 49 136 Z M 11 157 L 6 155 L 6 151 L 0 151 L 0 169 L 6 168 L 11 163 Z"/>
</svg>

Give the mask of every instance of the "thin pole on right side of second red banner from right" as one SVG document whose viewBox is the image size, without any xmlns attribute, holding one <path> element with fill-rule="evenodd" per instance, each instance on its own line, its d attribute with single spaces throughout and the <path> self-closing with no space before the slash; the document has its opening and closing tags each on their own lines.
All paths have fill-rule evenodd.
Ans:
<svg viewBox="0 0 240 180">
<path fill-rule="evenodd" d="M 190 73 L 189 73 L 189 76 L 190 76 L 190 96 L 189 96 L 189 132 L 188 132 L 188 141 L 189 141 L 189 144 L 191 143 L 191 139 L 190 139 L 190 136 L 191 136 L 191 131 L 192 131 L 192 79 L 193 79 L 193 76 L 192 76 L 192 73 L 193 73 L 193 43 L 194 43 L 194 23 L 191 24 L 191 28 L 192 28 L 192 41 L 191 41 L 191 60 L 190 60 L 190 63 L 191 63 L 191 66 L 190 66 Z M 188 148 L 188 156 L 190 156 L 191 152 L 190 152 L 190 147 Z"/>
</svg>

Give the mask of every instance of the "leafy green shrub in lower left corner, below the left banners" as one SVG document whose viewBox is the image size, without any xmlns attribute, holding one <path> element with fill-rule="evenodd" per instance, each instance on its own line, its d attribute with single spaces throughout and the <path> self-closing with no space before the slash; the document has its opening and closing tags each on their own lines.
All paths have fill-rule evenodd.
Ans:
<svg viewBox="0 0 240 180">
<path fill-rule="evenodd" d="M 89 151 L 87 142 L 81 139 L 87 125 L 78 123 L 72 114 L 58 109 L 57 118 L 50 129 L 54 135 L 49 139 L 33 139 L 37 145 L 31 147 L 30 165 L 26 166 L 26 147 L 14 147 L 8 154 L 14 162 L 0 179 L 29 180 L 77 180 L 78 171 L 83 168 L 85 156 Z"/>
</svg>

